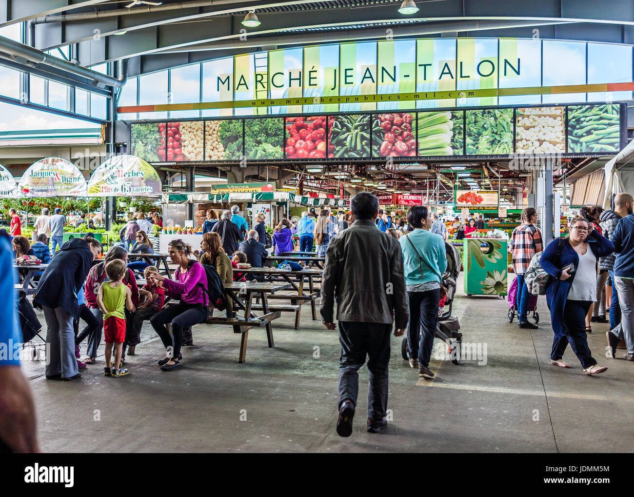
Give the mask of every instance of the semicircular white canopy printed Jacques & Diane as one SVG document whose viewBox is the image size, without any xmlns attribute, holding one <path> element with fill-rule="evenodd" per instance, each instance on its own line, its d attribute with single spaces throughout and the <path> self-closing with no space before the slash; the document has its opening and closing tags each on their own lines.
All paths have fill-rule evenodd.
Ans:
<svg viewBox="0 0 634 497">
<path fill-rule="evenodd" d="M 77 166 L 60 157 L 46 157 L 31 164 L 18 188 L 23 197 L 86 197 L 88 190 Z"/>
</svg>

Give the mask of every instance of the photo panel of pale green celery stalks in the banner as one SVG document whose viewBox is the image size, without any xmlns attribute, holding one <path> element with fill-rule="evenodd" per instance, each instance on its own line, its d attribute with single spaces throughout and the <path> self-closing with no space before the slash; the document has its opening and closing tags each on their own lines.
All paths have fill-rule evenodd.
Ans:
<svg viewBox="0 0 634 497">
<path fill-rule="evenodd" d="M 418 155 L 462 155 L 463 110 L 418 112 Z"/>
</svg>

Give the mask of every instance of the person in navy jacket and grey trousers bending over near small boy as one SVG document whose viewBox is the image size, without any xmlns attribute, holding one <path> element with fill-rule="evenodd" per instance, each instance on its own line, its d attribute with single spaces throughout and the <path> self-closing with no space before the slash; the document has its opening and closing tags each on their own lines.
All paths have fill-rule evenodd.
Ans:
<svg viewBox="0 0 634 497">
<path fill-rule="evenodd" d="M 46 319 L 47 380 L 81 378 L 75 360 L 73 319 L 79 319 L 77 290 L 82 287 L 101 243 L 94 238 L 72 238 L 61 246 L 40 278 L 34 304 Z"/>
</svg>

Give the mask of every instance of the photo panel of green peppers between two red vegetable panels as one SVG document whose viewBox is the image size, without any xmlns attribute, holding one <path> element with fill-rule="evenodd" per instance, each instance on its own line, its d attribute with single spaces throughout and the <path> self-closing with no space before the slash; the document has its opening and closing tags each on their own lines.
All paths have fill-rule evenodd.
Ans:
<svg viewBox="0 0 634 497">
<path fill-rule="evenodd" d="M 329 115 L 328 149 L 328 157 L 370 157 L 370 115 Z"/>
</svg>

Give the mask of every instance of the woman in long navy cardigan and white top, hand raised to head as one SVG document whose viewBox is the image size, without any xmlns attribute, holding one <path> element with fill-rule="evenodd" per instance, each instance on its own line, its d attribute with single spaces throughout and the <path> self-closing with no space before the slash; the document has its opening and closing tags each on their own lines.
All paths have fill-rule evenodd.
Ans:
<svg viewBox="0 0 634 497">
<path fill-rule="evenodd" d="M 566 345 L 570 343 L 586 375 L 597 375 L 607 368 L 598 366 L 592 357 L 585 316 L 597 297 L 598 258 L 614 252 L 614 245 L 605 236 L 599 235 L 592 223 L 583 217 L 574 217 L 569 226 L 570 236 L 555 238 L 540 259 L 541 267 L 553 276 L 546 288 L 546 301 L 555 333 L 550 362 L 560 368 L 569 368 L 563 356 Z"/>
</svg>

